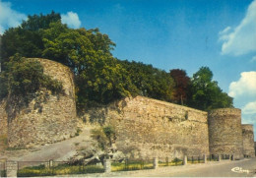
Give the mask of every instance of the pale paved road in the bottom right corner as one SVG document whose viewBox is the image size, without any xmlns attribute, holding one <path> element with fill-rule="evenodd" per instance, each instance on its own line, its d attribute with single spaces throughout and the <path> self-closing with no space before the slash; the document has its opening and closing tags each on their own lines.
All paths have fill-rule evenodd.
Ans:
<svg viewBox="0 0 256 178">
<path fill-rule="evenodd" d="M 236 168 L 235 168 L 236 167 Z M 233 169 L 233 171 L 231 170 Z M 256 177 L 256 158 L 141 171 L 130 177 Z"/>
</svg>

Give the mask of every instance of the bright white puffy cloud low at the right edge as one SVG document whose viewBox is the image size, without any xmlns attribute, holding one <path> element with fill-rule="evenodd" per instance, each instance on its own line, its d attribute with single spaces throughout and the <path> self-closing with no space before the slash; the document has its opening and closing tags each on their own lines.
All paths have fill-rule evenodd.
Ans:
<svg viewBox="0 0 256 178">
<path fill-rule="evenodd" d="M 229 85 L 228 95 L 232 97 L 241 95 L 256 96 L 256 71 L 241 73 L 240 79 Z"/>
</svg>

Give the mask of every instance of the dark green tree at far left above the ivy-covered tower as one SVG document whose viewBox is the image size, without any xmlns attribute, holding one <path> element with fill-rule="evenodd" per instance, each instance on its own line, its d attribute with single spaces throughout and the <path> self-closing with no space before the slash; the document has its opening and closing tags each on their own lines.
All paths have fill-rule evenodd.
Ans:
<svg viewBox="0 0 256 178">
<path fill-rule="evenodd" d="M 61 20 L 60 14 L 51 12 L 49 15 L 29 16 L 18 28 L 6 30 L 2 36 L 0 59 L 5 69 L 5 62 L 19 53 L 24 57 L 42 57 L 44 48 L 41 30 L 49 28 L 51 23 Z"/>
</svg>

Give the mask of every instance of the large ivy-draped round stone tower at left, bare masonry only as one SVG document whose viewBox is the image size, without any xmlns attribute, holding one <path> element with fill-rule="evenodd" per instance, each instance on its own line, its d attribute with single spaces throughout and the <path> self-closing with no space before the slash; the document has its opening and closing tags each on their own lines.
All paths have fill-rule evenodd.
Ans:
<svg viewBox="0 0 256 178">
<path fill-rule="evenodd" d="M 28 60 L 39 61 L 44 74 L 62 82 L 64 90 L 63 93 L 53 94 L 40 89 L 34 94 L 29 106 L 22 108 L 11 119 L 8 116 L 12 115 L 13 104 L 10 103 L 13 98 L 7 98 L 7 115 L 0 116 L 0 120 L 8 121 L 10 148 L 31 148 L 54 143 L 74 136 L 77 131 L 73 73 L 57 62 L 37 58 Z"/>
</svg>

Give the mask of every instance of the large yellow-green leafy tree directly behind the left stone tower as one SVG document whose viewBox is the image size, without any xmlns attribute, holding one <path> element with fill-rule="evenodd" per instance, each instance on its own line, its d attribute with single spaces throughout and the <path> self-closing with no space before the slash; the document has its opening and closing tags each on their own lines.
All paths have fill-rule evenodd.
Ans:
<svg viewBox="0 0 256 178">
<path fill-rule="evenodd" d="M 43 30 L 42 56 L 69 66 L 75 73 L 77 106 L 106 104 L 130 95 L 133 85 L 110 50 L 114 43 L 98 30 L 72 30 L 60 22 Z"/>
</svg>

